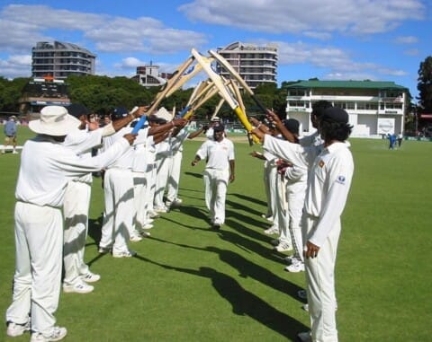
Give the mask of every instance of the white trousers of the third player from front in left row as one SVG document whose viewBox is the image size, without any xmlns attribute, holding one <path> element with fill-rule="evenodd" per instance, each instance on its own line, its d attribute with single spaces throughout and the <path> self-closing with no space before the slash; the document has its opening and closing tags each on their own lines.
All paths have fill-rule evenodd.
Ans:
<svg viewBox="0 0 432 342">
<path fill-rule="evenodd" d="M 130 230 L 133 229 L 133 180 L 130 170 L 112 168 L 103 179 L 105 211 L 100 247 L 112 247 L 112 252 L 128 250 Z"/>
</svg>

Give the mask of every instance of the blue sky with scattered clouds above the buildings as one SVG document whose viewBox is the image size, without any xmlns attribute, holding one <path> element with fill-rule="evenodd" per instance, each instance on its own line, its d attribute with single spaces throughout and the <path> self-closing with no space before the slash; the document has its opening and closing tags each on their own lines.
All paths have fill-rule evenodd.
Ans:
<svg viewBox="0 0 432 342">
<path fill-rule="evenodd" d="M 0 0 L 0 75 L 31 76 L 31 47 L 67 41 L 97 55 L 97 75 L 171 72 L 232 42 L 279 48 L 278 83 L 393 81 L 418 96 L 432 55 L 429 0 Z"/>
</svg>

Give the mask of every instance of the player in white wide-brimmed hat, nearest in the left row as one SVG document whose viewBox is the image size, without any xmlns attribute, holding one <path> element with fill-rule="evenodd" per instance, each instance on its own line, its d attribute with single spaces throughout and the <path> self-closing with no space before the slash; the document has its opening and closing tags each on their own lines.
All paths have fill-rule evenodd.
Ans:
<svg viewBox="0 0 432 342">
<path fill-rule="evenodd" d="M 29 123 L 38 136 L 28 140 L 15 190 L 15 274 L 13 302 L 6 311 L 7 335 L 31 329 L 31 342 L 58 341 L 67 329 L 55 325 L 61 285 L 63 215 L 69 180 L 115 162 L 135 139 L 126 135 L 106 153 L 80 158 L 65 147 L 80 124 L 64 107 L 47 106 Z"/>
</svg>

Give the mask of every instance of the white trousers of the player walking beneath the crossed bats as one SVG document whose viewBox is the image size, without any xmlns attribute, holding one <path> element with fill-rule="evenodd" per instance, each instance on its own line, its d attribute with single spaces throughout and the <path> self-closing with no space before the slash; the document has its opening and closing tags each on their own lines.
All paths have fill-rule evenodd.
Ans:
<svg viewBox="0 0 432 342">
<path fill-rule="evenodd" d="M 225 223 L 225 199 L 229 181 L 229 170 L 205 169 L 203 172 L 205 205 L 213 223 Z"/>
</svg>

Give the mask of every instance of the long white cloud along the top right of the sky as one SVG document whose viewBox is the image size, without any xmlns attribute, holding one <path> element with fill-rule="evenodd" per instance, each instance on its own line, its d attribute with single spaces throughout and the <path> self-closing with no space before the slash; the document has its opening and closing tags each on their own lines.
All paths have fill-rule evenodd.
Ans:
<svg viewBox="0 0 432 342">
<path fill-rule="evenodd" d="M 426 12 L 419 0 L 327 0 L 325 5 L 320 0 L 193 0 L 179 10 L 195 22 L 296 34 L 380 33 L 405 20 L 421 20 Z"/>
</svg>

